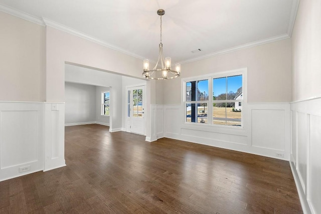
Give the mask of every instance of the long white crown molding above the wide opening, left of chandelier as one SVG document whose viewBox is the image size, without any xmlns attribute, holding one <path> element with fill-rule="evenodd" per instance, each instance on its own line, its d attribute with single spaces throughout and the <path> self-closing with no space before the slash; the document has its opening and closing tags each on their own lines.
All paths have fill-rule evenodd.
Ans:
<svg viewBox="0 0 321 214">
<path fill-rule="evenodd" d="M 94 43 L 97 43 L 97 44 L 99 44 L 99 45 L 102 45 L 102 46 L 104 46 L 104 47 L 110 48 L 110 49 L 112 49 L 112 50 L 121 52 L 121 53 L 126 54 L 126 55 L 129 55 L 129 56 L 135 57 L 135 58 L 137 58 L 137 59 L 141 59 L 141 60 L 145 59 L 145 58 L 143 58 L 142 56 L 133 54 L 133 53 L 131 53 L 131 52 L 129 52 L 129 51 L 126 51 L 126 50 L 124 50 L 124 49 L 122 49 L 122 48 L 119 48 L 119 47 L 117 47 L 117 46 L 113 46 L 113 45 L 111 45 L 111 44 L 109 44 L 109 43 L 107 43 L 107 42 L 105 42 L 105 41 L 103 41 L 103 40 L 100 40 L 100 39 L 94 38 L 94 37 L 92 37 L 92 36 L 89 36 L 89 35 L 87 35 L 87 34 L 81 33 L 81 32 L 79 32 L 79 31 L 77 31 L 77 30 L 74 30 L 74 29 L 69 28 L 69 27 L 64 26 L 64 25 L 61 25 L 60 23 L 56 23 L 56 22 L 51 21 L 51 20 L 46 19 L 46 18 L 42 18 L 42 19 L 43 19 L 43 22 L 45 23 L 46 26 L 55 28 L 55 29 L 60 30 L 60 31 L 63 31 L 63 32 L 66 32 L 66 33 L 68 33 L 68 34 L 72 34 L 72 35 L 74 35 L 74 36 L 80 37 L 80 38 L 82 38 L 82 39 L 85 39 L 85 40 L 88 40 L 88 41 L 91 41 L 91 42 L 94 42 Z"/>
</svg>

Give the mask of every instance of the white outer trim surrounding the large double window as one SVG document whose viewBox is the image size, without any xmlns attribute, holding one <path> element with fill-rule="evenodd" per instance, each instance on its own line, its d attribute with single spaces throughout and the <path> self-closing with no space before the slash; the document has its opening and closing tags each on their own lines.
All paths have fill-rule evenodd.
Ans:
<svg viewBox="0 0 321 214">
<path fill-rule="evenodd" d="M 236 76 L 236 75 L 243 75 L 242 78 L 242 91 L 243 91 L 243 101 L 242 101 L 242 123 L 241 126 L 228 126 L 228 125 L 217 125 L 217 124 L 204 124 L 204 123 L 191 123 L 186 122 L 186 82 L 190 81 L 198 81 L 198 80 L 205 80 L 209 79 L 209 98 L 212 96 L 213 87 L 212 87 L 212 78 L 220 78 L 220 77 L 226 77 L 226 76 Z M 193 129 L 193 130 L 200 130 L 200 131 L 209 131 L 209 132 L 220 132 L 220 133 L 227 133 L 231 134 L 231 131 L 233 131 L 234 134 L 239 135 L 246 135 L 245 128 L 247 124 L 247 118 L 246 118 L 246 110 L 247 110 L 247 68 L 241 68 L 241 69 L 235 69 L 230 71 L 223 71 L 223 72 L 217 72 L 217 73 L 211 73 L 206 75 L 200 75 L 200 76 L 194 76 L 194 77 L 188 77 L 188 78 L 182 78 L 181 80 L 181 89 L 182 89 L 182 128 L 186 129 Z M 211 96 L 210 96 L 211 95 Z M 234 100 L 235 101 L 235 100 Z M 189 101 L 189 102 L 204 102 L 204 101 Z M 205 101 L 204 103 L 208 103 L 208 108 L 211 108 L 211 113 L 213 113 L 213 107 L 212 107 L 212 100 L 209 99 L 209 101 Z M 209 110 L 208 110 L 209 111 Z M 211 121 L 211 120 L 208 120 Z"/>
</svg>

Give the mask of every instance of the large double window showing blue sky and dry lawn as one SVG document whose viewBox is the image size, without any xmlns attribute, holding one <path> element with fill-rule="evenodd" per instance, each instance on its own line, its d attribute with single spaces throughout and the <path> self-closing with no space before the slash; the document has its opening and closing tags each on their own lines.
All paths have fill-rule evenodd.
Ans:
<svg viewBox="0 0 321 214">
<path fill-rule="evenodd" d="M 244 71 L 242 69 L 184 81 L 185 122 L 242 126 Z"/>
</svg>

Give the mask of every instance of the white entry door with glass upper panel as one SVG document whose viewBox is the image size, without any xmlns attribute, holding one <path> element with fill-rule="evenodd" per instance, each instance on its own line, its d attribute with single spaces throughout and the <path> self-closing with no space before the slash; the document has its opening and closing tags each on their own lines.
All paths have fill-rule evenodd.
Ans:
<svg viewBox="0 0 321 214">
<path fill-rule="evenodd" d="M 127 88 L 127 131 L 145 134 L 145 87 Z"/>
</svg>

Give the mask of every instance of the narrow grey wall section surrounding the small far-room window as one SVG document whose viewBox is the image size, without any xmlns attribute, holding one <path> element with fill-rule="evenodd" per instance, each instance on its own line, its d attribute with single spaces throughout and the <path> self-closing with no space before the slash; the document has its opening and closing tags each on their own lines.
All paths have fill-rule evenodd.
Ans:
<svg viewBox="0 0 321 214">
<path fill-rule="evenodd" d="M 109 126 L 109 116 L 102 116 L 101 115 L 101 93 L 110 91 L 109 87 L 102 87 L 102 86 L 96 86 L 95 90 L 95 97 L 96 97 L 96 109 L 95 109 L 95 118 L 96 118 L 96 123 L 101 124 L 101 125 L 107 125 Z M 110 102 L 113 102 L 113 97 L 111 97 Z"/>
</svg>

